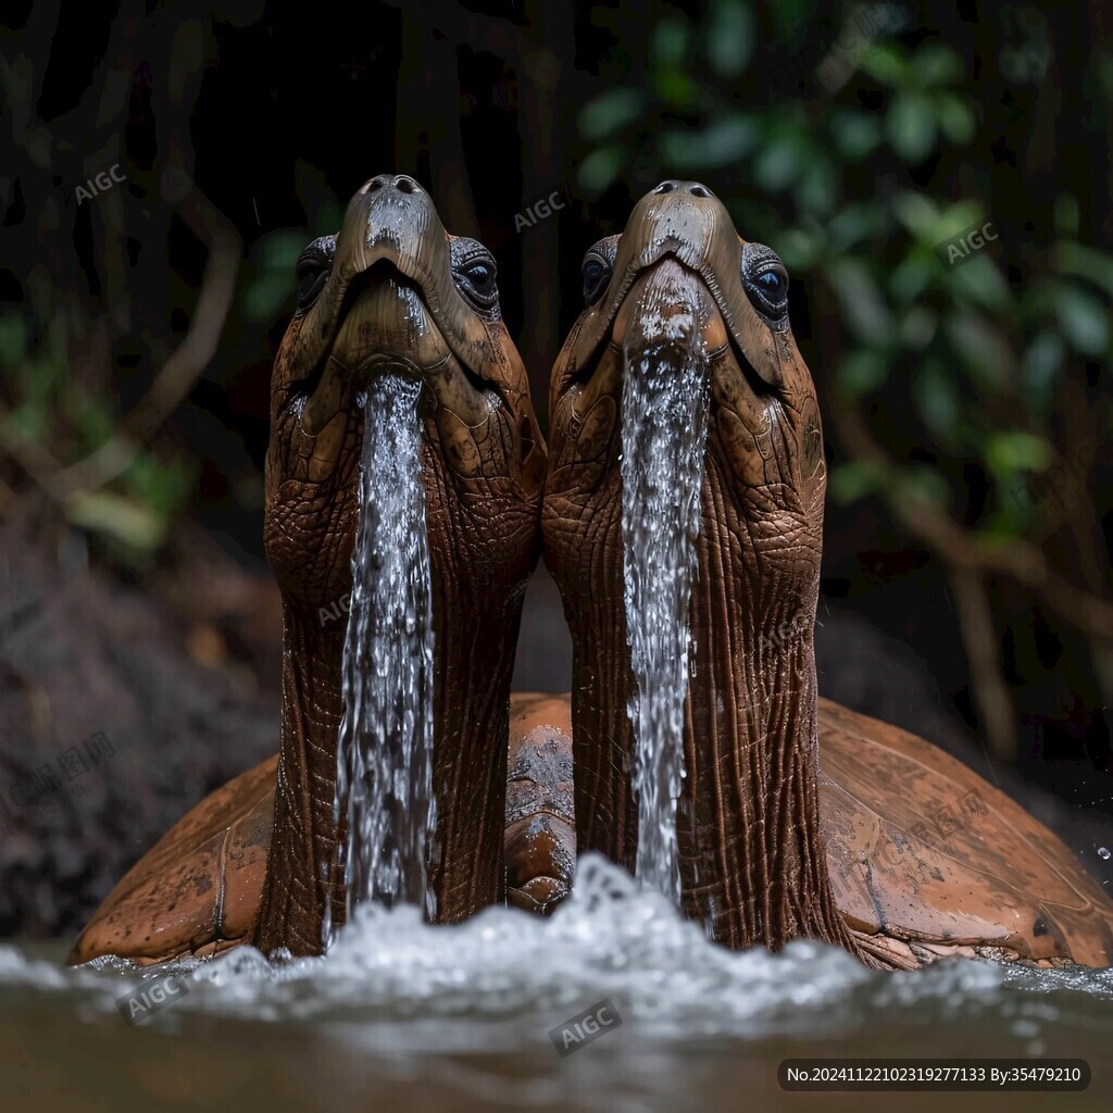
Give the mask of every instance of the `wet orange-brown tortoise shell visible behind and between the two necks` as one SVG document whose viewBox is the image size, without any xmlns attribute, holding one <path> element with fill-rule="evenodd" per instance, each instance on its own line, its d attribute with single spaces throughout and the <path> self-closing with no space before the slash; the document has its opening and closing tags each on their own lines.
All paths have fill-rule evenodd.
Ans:
<svg viewBox="0 0 1113 1113">
<path fill-rule="evenodd" d="M 511 903 L 548 910 L 575 860 L 571 711 L 568 697 L 515 693 L 511 705 Z M 819 748 L 836 900 L 885 965 L 947 955 L 1113 964 L 1113 904 L 1009 797 L 924 739 L 825 699 Z M 115 954 L 149 964 L 250 942 L 276 765 L 240 775 L 176 824 L 109 894 L 69 962 Z"/>
</svg>

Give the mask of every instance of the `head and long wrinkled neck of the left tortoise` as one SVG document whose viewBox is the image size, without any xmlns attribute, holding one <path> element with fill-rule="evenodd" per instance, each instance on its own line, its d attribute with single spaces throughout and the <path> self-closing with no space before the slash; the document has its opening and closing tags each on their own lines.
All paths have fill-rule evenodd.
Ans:
<svg viewBox="0 0 1113 1113">
<path fill-rule="evenodd" d="M 333 798 L 344 630 L 319 615 L 352 589 L 356 397 L 382 371 L 424 384 L 437 919 L 502 897 L 510 677 L 538 558 L 545 456 L 524 368 L 481 266 L 493 275 L 485 248 L 450 236 L 429 195 L 401 175 L 367 181 L 338 235 L 299 263 L 306 296 L 275 362 L 266 461 L 284 672 L 275 836 L 255 940 L 265 954 L 321 952 L 329 885 L 334 923 L 344 918 L 341 879 L 326 880 L 342 835 Z"/>
</svg>

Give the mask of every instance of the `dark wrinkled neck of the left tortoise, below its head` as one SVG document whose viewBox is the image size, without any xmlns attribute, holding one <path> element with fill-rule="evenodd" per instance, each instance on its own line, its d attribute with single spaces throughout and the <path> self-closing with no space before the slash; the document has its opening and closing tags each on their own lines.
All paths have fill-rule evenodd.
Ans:
<svg viewBox="0 0 1113 1113">
<path fill-rule="evenodd" d="M 333 806 L 346 613 L 335 604 L 352 591 L 363 434 L 358 410 L 341 420 L 348 426 L 344 442 L 349 447 L 336 472 L 322 483 L 294 486 L 287 480 L 282 503 L 289 512 L 274 515 L 267 526 L 268 536 L 282 531 L 284 540 L 304 531 L 299 545 L 317 554 L 319 569 L 308 582 L 283 592 L 282 754 L 258 930 L 264 954 L 318 954 L 326 907 L 334 926 L 345 916 L 342 879 L 335 870 L 328 877 L 336 840 L 344 835 L 335 828 Z M 451 922 L 502 895 L 510 678 L 525 587 L 539 554 L 540 500 L 509 474 L 479 483 L 462 477 L 445 461 L 436 421 L 424 425 L 439 815 L 429 877 L 437 919 Z M 304 460 L 292 463 L 296 469 Z M 289 474 L 285 463 L 276 462 L 274 472 Z M 484 540 L 476 554 L 477 538 L 496 543 L 489 548 Z M 337 610 L 339 619 L 333 618 Z"/>
</svg>

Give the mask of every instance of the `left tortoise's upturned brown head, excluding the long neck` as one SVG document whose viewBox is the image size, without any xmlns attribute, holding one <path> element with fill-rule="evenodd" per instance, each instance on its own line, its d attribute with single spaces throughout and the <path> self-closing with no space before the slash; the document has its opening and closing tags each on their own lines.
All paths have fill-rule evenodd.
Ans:
<svg viewBox="0 0 1113 1113">
<path fill-rule="evenodd" d="M 329 607 L 351 583 L 359 402 L 371 376 L 422 384 L 426 463 L 460 492 L 493 485 L 529 496 L 544 474 L 544 445 L 502 322 L 494 258 L 477 240 L 450 236 L 413 178 L 365 183 L 339 233 L 302 253 L 297 285 L 272 381 L 266 546 L 285 593 Z M 480 545 L 500 530 L 489 514 L 472 524 Z"/>
</svg>

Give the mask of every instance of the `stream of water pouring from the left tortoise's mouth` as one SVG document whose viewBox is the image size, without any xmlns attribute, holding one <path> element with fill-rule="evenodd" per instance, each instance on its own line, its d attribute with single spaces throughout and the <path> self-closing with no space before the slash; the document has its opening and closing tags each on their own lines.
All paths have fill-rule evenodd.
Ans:
<svg viewBox="0 0 1113 1113">
<path fill-rule="evenodd" d="M 365 397 L 359 525 L 344 642 L 344 719 L 334 819 L 347 817 L 344 879 L 357 905 L 417 904 L 432 915 L 426 861 L 433 797 L 433 613 L 421 384 L 376 376 Z M 326 938 L 331 935 L 326 924 Z"/>
</svg>

